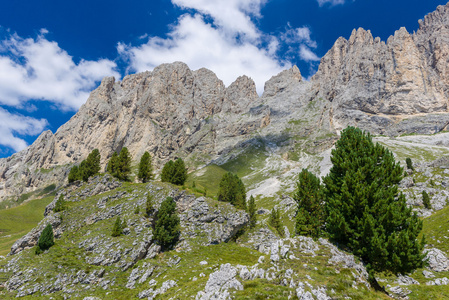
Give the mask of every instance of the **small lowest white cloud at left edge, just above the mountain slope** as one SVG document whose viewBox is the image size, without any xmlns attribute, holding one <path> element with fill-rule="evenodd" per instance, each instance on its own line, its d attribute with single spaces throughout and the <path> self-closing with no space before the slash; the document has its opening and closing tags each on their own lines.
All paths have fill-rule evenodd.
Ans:
<svg viewBox="0 0 449 300">
<path fill-rule="evenodd" d="M 37 135 L 48 125 L 45 119 L 34 119 L 22 115 L 14 115 L 0 108 L 0 145 L 11 147 L 15 151 L 24 149 L 27 143 L 15 136 Z"/>
</svg>

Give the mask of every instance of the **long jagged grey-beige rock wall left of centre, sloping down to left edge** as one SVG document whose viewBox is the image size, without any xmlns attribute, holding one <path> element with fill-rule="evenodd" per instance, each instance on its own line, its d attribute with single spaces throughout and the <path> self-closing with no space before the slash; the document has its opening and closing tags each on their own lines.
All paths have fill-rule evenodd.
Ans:
<svg viewBox="0 0 449 300">
<path fill-rule="evenodd" d="M 61 182 L 69 167 L 95 148 L 103 167 L 125 146 L 134 160 L 149 151 L 156 165 L 193 150 L 213 156 L 220 150 L 217 138 L 229 147 L 236 135 L 269 124 L 269 111 L 237 118 L 257 105 L 258 98 L 246 76 L 226 88 L 213 72 L 192 71 L 180 62 L 126 76 L 122 82 L 104 78 L 54 135 L 46 131 L 29 148 L 0 160 L 0 198 Z"/>
</svg>

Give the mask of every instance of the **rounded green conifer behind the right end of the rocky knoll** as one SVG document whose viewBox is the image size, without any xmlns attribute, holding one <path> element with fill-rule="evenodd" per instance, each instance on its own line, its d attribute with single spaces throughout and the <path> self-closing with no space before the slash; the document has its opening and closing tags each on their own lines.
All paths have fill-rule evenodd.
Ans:
<svg viewBox="0 0 449 300">
<path fill-rule="evenodd" d="M 231 172 L 223 175 L 218 187 L 218 200 L 229 202 L 240 209 L 246 209 L 245 185 L 237 175 Z"/>
</svg>

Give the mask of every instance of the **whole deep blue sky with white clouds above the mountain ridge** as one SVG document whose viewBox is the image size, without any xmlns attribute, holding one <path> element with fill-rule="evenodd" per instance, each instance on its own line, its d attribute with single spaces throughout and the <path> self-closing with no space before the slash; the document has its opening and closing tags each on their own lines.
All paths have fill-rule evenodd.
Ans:
<svg viewBox="0 0 449 300">
<path fill-rule="evenodd" d="M 335 40 L 363 27 L 386 40 L 447 0 L 2 1 L 0 157 L 55 132 L 104 76 L 184 61 L 229 85 L 263 84 L 297 65 L 304 78 Z"/>
</svg>

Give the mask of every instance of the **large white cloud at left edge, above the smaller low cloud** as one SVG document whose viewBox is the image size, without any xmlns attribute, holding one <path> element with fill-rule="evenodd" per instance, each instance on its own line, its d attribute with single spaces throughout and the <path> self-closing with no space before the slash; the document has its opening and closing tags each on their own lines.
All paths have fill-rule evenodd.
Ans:
<svg viewBox="0 0 449 300">
<path fill-rule="evenodd" d="M 78 64 L 42 29 L 36 39 L 17 34 L 0 41 L 0 104 L 22 107 L 28 100 L 45 100 L 76 110 L 104 76 L 120 75 L 107 59 Z"/>
</svg>

